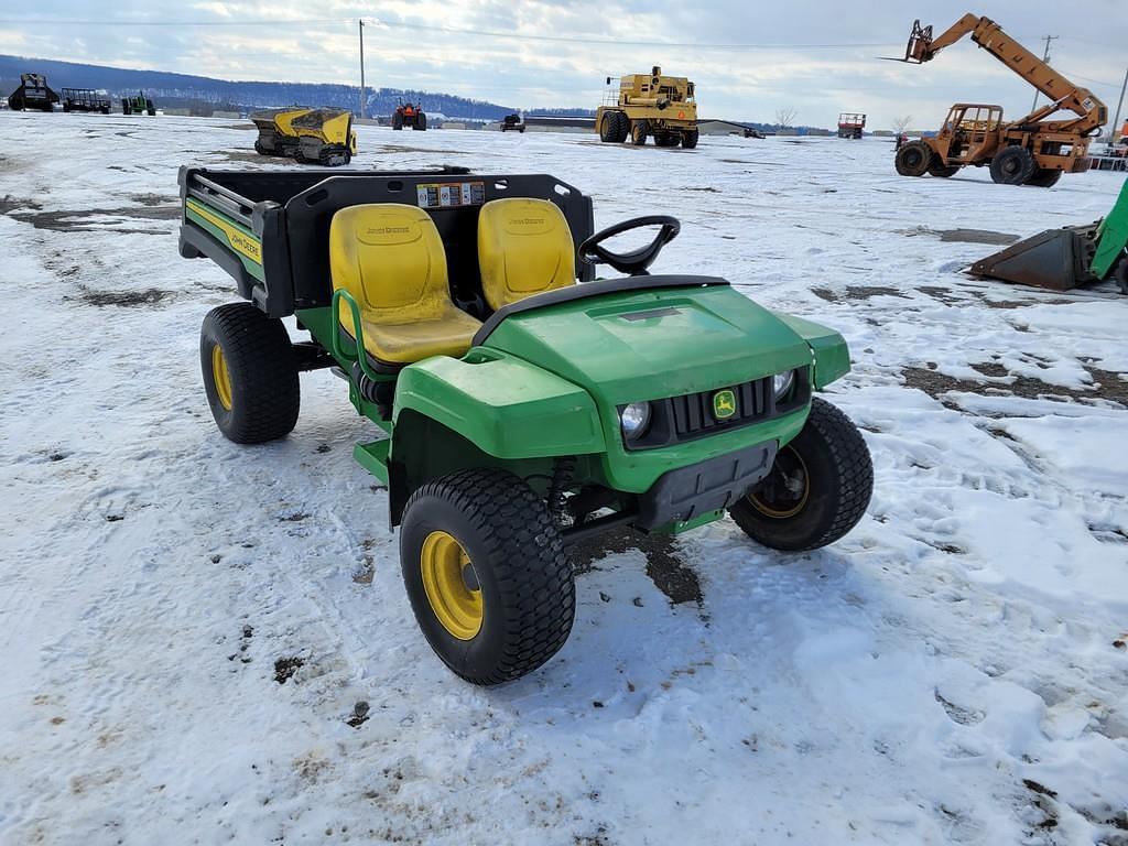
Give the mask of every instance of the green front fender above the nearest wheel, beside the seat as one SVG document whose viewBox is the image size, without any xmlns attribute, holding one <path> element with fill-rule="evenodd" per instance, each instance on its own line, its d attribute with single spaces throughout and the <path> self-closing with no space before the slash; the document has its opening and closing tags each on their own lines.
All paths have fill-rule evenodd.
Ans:
<svg viewBox="0 0 1128 846">
<path fill-rule="evenodd" d="M 585 390 L 494 350 L 472 350 L 464 359 L 435 356 L 405 368 L 396 386 L 395 420 L 407 409 L 495 458 L 605 449 L 599 413 Z"/>
</svg>

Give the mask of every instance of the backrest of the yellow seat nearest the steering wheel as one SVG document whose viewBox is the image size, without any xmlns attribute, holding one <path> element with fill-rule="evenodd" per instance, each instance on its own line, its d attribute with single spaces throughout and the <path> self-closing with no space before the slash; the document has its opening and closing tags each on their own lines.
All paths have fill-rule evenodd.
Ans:
<svg viewBox="0 0 1128 846">
<path fill-rule="evenodd" d="M 575 282 L 575 244 L 547 200 L 492 200 L 478 214 L 478 270 L 490 308 Z"/>
</svg>

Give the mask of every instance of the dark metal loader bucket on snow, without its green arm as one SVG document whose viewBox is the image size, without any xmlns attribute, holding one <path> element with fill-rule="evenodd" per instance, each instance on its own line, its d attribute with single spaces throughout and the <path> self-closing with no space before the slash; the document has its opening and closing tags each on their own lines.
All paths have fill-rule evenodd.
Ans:
<svg viewBox="0 0 1128 846">
<path fill-rule="evenodd" d="M 1068 291 L 1095 282 L 1090 272 L 1098 224 L 1047 229 L 971 265 L 973 276 Z"/>
</svg>

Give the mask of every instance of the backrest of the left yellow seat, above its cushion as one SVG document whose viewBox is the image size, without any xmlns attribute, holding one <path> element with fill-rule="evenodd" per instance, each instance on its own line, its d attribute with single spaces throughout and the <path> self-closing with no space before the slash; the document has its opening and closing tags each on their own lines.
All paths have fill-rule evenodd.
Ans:
<svg viewBox="0 0 1128 846">
<path fill-rule="evenodd" d="M 437 317 L 450 301 L 442 238 L 414 205 L 350 205 L 334 214 L 329 272 L 334 290 L 349 291 L 377 323 Z M 341 323 L 352 326 L 347 308 Z"/>
</svg>

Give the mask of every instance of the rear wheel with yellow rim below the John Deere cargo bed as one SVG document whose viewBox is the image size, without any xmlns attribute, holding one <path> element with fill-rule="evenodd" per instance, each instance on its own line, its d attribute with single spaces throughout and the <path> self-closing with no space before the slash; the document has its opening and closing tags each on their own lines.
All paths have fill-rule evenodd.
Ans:
<svg viewBox="0 0 1128 846">
<path fill-rule="evenodd" d="M 293 431 L 301 391 L 281 320 L 249 302 L 213 308 L 200 329 L 200 369 L 215 425 L 228 440 L 262 443 Z"/>
</svg>

